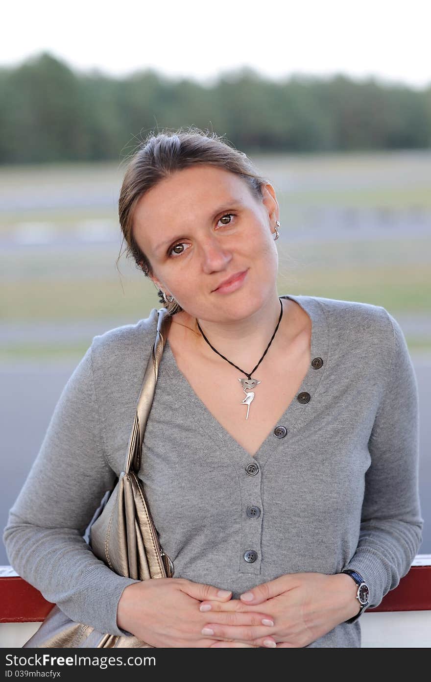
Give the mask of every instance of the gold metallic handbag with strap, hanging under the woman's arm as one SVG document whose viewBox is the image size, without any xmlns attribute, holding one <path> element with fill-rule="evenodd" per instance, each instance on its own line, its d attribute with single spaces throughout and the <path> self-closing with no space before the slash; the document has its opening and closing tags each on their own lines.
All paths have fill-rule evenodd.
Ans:
<svg viewBox="0 0 431 682">
<path fill-rule="evenodd" d="M 166 308 L 158 310 L 158 325 L 151 356 L 140 389 L 136 417 L 130 434 L 124 471 L 100 516 L 90 529 L 93 554 L 112 571 L 135 580 L 171 578 L 173 563 L 160 547 L 158 533 L 149 511 L 143 482 L 138 478 L 145 426 L 153 403 L 155 383 L 172 317 Z M 90 625 L 75 623 L 54 606 L 27 647 L 151 647 L 136 636 L 103 634 Z"/>
</svg>

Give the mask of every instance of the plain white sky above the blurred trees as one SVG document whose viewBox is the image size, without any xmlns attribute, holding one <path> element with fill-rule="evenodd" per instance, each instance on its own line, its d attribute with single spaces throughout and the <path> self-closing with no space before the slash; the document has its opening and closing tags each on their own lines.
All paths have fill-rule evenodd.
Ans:
<svg viewBox="0 0 431 682">
<path fill-rule="evenodd" d="M 27 0 L 5 3 L 1 20 L 0 65 L 48 50 L 117 76 L 152 67 L 211 83 L 249 65 L 275 79 L 342 72 L 431 83 L 430 0 Z"/>
</svg>

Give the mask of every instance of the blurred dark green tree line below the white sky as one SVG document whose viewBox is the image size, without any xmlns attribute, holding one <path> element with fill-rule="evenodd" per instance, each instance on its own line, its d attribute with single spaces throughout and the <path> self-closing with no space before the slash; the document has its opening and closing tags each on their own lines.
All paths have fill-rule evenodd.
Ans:
<svg viewBox="0 0 431 682">
<path fill-rule="evenodd" d="M 121 160 L 162 128 L 197 125 L 249 153 L 423 149 L 431 83 L 415 90 L 368 78 L 291 76 L 250 68 L 213 85 L 155 70 L 77 73 L 42 53 L 0 68 L 0 163 Z"/>
</svg>

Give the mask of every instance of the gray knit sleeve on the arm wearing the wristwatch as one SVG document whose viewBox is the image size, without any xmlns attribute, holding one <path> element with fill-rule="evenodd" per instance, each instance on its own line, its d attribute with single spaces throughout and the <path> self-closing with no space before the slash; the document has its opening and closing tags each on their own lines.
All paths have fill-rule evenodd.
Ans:
<svg viewBox="0 0 431 682">
<path fill-rule="evenodd" d="M 402 329 L 385 312 L 393 332 L 391 369 L 368 443 L 371 465 L 366 473 L 359 543 L 344 566 L 355 569 L 368 583 L 371 607 L 378 606 L 408 573 L 423 528 L 417 380 Z"/>
</svg>

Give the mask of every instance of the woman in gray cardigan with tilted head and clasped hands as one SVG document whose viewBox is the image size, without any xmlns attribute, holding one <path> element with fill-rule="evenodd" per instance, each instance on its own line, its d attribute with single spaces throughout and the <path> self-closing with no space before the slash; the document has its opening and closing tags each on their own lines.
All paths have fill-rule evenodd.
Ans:
<svg viewBox="0 0 431 682">
<path fill-rule="evenodd" d="M 123 466 L 155 309 L 95 337 L 68 381 L 10 512 L 10 563 L 75 621 L 153 647 L 360 647 L 360 614 L 421 542 L 400 326 L 278 297 L 276 192 L 218 136 L 151 136 L 119 218 L 173 315 L 141 475 L 175 576 L 117 576 L 83 539 Z"/>
</svg>

